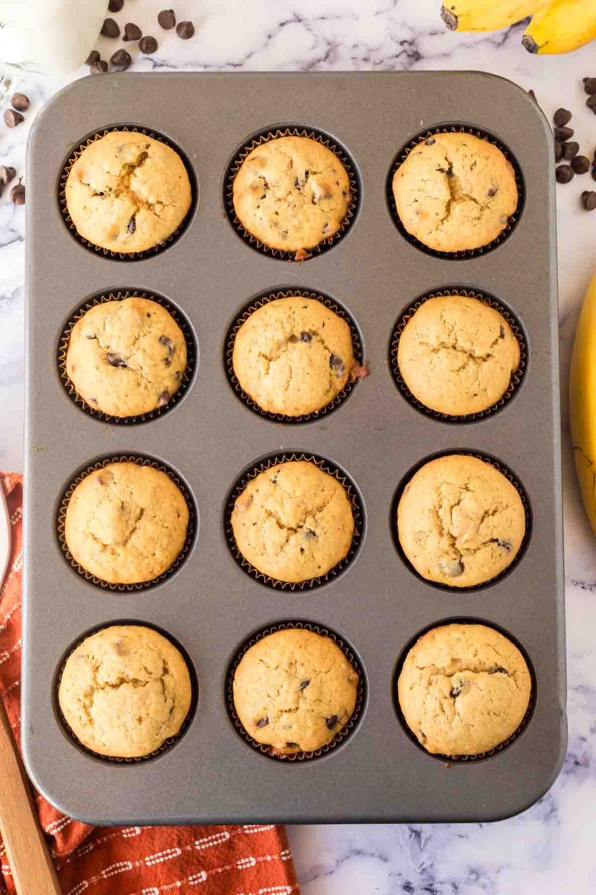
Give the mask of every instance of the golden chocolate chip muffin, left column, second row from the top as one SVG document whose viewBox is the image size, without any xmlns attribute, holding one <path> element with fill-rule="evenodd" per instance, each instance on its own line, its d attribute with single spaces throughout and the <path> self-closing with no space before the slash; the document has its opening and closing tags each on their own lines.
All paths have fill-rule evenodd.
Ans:
<svg viewBox="0 0 596 895">
<path fill-rule="evenodd" d="M 161 304 L 125 298 L 96 304 L 71 331 L 66 372 L 76 392 L 110 416 L 168 403 L 186 371 L 186 340 Z"/>
</svg>

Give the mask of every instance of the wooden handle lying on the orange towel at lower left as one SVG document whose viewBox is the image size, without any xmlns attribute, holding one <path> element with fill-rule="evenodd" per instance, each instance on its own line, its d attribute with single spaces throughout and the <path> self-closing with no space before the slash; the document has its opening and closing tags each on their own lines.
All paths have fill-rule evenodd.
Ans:
<svg viewBox="0 0 596 895">
<path fill-rule="evenodd" d="M 17 895 L 62 895 L 2 699 L 0 780 L 0 834 Z"/>
</svg>

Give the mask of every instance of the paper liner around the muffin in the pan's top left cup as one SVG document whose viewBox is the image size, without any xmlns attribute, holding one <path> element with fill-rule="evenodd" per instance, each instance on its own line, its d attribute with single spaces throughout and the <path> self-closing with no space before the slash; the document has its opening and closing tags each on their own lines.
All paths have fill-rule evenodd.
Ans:
<svg viewBox="0 0 596 895">
<path fill-rule="evenodd" d="M 80 154 L 84 149 L 87 149 L 88 146 L 91 145 L 96 140 L 101 140 L 102 137 L 105 137 L 106 134 L 112 133 L 113 131 L 118 131 L 122 133 L 143 133 L 146 137 L 151 137 L 153 140 L 158 140 L 162 143 L 165 143 L 166 146 L 169 146 L 171 149 L 174 149 L 176 153 L 180 156 L 184 167 L 186 168 L 187 174 L 189 175 L 190 182 L 190 208 L 180 222 L 180 225 L 170 234 L 167 239 L 164 240 L 163 243 L 159 243 L 158 245 L 152 246 L 150 249 L 145 249 L 144 251 L 130 251 L 130 252 L 122 252 L 122 251 L 111 251 L 110 249 L 104 249 L 101 245 L 96 245 L 95 243 L 90 243 L 84 236 L 81 236 L 77 231 L 77 228 L 74 226 L 71 220 L 71 216 L 66 207 L 66 181 L 68 180 L 68 175 L 71 173 L 71 167 L 76 162 L 77 158 L 80 157 Z M 184 152 L 180 149 L 179 146 L 176 145 L 172 140 L 166 137 L 163 133 L 155 132 L 149 128 L 139 127 L 135 124 L 115 124 L 109 127 L 103 127 L 98 131 L 91 132 L 82 140 L 75 149 L 71 149 L 67 158 L 65 159 L 62 170 L 60 172 L 58 178 L 58 207 L 60 208 L 60 212 L 63 217 L 64 224 L 68 227 L 70 234 L 77 240 L 80 245 L 84 245 L 86 249 L 89 251 L 95 251 L 99 254 L 102 254 L 104 257 L 110 258 L 112 260 L 121 260 L 121 261 L 136 261 L 141 260 L 143 258 L 152 258 L 156 252 L 164 251 L 168 249 L 172 243 L 174 243 L 180 236 L 184 233 L 186 228 L 189 226 L 189 222 L 192 219 L 195 209 L 197 208 L 197 183 L 195 179 L 195 174 L 190 165 L 189 159 L 186 157 Z"/>
</svg>

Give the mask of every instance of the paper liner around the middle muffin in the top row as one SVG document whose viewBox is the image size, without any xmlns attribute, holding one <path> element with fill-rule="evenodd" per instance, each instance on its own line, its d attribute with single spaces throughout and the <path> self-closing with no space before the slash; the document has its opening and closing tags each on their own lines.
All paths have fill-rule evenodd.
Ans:
<svg viewBox="0 0 596 895">
<path fill-rule="evenodd" d="M 348 200 L 348 212 L 346 217 L 343 219 L 340 229 L 337 233 L 332 234 L 331 236 L 323 239 L 321 243 L 315 245 L 312 249 L 307 249 L 307 258 L 311 256 L 320 255 L 323 251 L 328 251 L 334 243 L 346 233 L 349 229 L 350 224 L 354 220 L 357 215 L 357 210 L 360 208 L 360 196 L 361 196 L 361 188 L 359 183 L 359 178 L 357 175 L 357 167 L 354 162 L 354 159 L 348 153 L 347 149 L 344 149 L 343 146 L 340 145 L 337 141 L 334 141 L 332 137 L 323 131 L 319 131 L 316 128 L 308 127 L 296 127 L 293 125 L 289 125 L 284 128 L 275 128 L 273 130 L 269 130 L 265 128 L 263 131 L 256 133 L 254 137 L 250 140 L 246 141 L 240 149 L 234 154 L 231 162 L 226 168 L 225 174 L 223 175 L 223 207 L 225 209 L 228 220 L 231 223 L 231 226 L 234 230 L 242 237 L 242 239 L 246 240 L 247 243 L 251 246 L 251 248 L 256 249 L 256 251 L 261 251 L 265 255 L 269 255 L 272 258 L 280 258 L 281 260 L 286 261 L 297 261 L 297 260 L 306 260 L 297 258 L 297 252 L 295 251 L 285 251 L 283 249 L 272 249 L 268 245 L 259 242 L 259 240 L 253 234 L 249 233 L 248 230 L 242 225 L 239 221 L 239 218 L 236 217 L 236 210 L 234 209 L 234 197 L 233 197 L 233 186 L 234 186 L 234 178 L 239 172 L 240 167 L 242 166 L 243 161 L 248 155 L 256 149 L 257 146 L 261 146 L 263 143 L 268 143 L 270 140 L 277 140 L 279 137 L 310 137 L 311 140 L 316 140 L 326 146 L 327 149 L 331 149 L 332 152 L 340 159 L 341 164 L 345 167 L 348 173 L 349 179 L 349 200 Z"/>
</svg>

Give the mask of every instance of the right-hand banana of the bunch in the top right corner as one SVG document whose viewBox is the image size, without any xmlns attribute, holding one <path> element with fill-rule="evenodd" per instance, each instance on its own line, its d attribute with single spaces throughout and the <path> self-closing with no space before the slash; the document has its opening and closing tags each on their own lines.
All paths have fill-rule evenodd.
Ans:
<svg viewBox="0 0 596 895">
<path fill-rule="evenodd" d="M 570 53 L 596 38 L 593 0 L 551 0 L 534 14 L 522 44 L 528 53 Z"/>
</svg>

